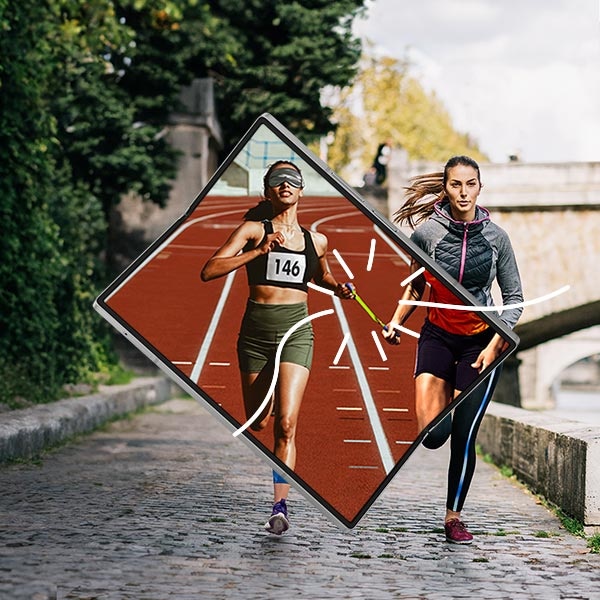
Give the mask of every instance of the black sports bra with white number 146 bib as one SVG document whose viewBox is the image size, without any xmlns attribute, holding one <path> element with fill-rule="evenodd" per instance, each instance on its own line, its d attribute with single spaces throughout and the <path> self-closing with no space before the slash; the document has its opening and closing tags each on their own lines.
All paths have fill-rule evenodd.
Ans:
<svg viewBox="0 0 600 600">
<path fill-rule="evenodd" d="M 265 235 L 261 243 L 270 233 L 273 233 L 271 221 L 262 222 Z M 254 260 L 246 263 L 249 285 L 273 285 L 275 287 L 292 288 L 308 291 L 307 283 L 314 277 L 319 263 L 317 250 L 312 241 L 310 232 L 300 228 L 304 234 L 304 250 L 289 250 L 278 246 L 271 252 L 261 254 Z M 246 245 L 244 252 L 253 246 Z"/>
</svg>

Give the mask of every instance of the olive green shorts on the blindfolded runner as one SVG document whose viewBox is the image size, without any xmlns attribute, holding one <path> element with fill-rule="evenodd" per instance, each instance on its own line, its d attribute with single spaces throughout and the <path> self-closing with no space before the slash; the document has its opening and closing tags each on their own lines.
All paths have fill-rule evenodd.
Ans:
<svg viewBox="0 0 600 600">
<path fill-rule="evenodd" d="M 238 362 L 243 373 L 259 373 L 274 364 L 277 347 L 289 329 L 308 316 L 305 302 L 262 304 L 248 299 L 237 343 Z M 296 329 L 281 350 L 280 362 L 310 369 L 313 357 L 313 329 L 309 322 Z"/>
</svg>

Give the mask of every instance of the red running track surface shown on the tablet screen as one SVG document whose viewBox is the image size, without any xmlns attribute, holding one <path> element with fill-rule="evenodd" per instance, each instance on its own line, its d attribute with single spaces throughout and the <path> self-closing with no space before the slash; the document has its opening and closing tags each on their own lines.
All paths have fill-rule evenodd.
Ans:
<svg viewBox="0 0 600 600">
<path fill-rule="evenodd" d="M 301 224 L 329 241 L 328 261 L 338 281 L 348 281 L 331 251 L 337 249 L 354 274 L 358 293 L 384 321 L 401 295 L 400 282 L 408 265 L 379 236 L 372 223 L 344 198 L 304 197 Z M 189 377 L 205 342 L 225 278 L 200 280 L 206 260 L 241 222 L 254 200 L 238 197 L 205 198 L 181 228 L 143 269 L 138 270 L 108 305 L 149 344 Z M 371 240 L 376 240 L 372 269 L 367 271 Z M 245 422 L 235 353 L 239 324 L 247 298 L 246 275 L 235 274 L 218 327 L 212 338 L 198 385 L 241 425 Z M 332 308 L 332 298 L 309 290 L 309 312 Z M 353 300 L 342 302 L 370 394 L 396 463 L 417 436 L 414 415 L 413 367 L 416 339 L 402 336 L 400 346 L 382 341 L 383 360 L 371 331 L 380 327 Z M 407 326 L 419 331 L 423 309 Z M 312 321 L 315 353 L 297 433 L 296 473 L 339 513 L 352 520 L 383 481 L 386 471 L 359 386 L 348 347 L 339 363 L 334 357 L 343 339 L 337 314 Z M 266 449 L 273 447 L 270 427 L 248 431 Z M 348 441 L 351 440 L 351 441 Z M 265 476 L 268 476 L 267 472 Z"/>
</svg>

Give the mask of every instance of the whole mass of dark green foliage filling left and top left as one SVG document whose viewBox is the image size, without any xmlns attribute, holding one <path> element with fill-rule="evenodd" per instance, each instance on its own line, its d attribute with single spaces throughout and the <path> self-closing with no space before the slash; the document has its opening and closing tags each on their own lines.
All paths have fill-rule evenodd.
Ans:
<svg viewBox="0 0 600 600">
<path fill-rule="evenodd" d="M 102 368 L 91 310 L 108 217 L 164 204 L 182 85 L 215 80 L 225 149 L 262 112 L 307 142 L 334 126 L 364 0 L 0 0 L 0 401 L 51 399 Z"/>
</svg>

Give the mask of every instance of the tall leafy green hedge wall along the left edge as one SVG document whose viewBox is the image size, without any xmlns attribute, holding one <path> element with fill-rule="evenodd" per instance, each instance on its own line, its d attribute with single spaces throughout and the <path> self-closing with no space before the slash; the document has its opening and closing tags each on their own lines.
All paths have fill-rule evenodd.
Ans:
<svg viewBox="0 0 600 600">
<path fill-rule="evenodd" d="M 67 18 L 80 4 L 0 4 L 0 398 L 9 403 L 54 399 L 109 352 L 91 311 L 106 220 L 100 197 L 75 174 L 57 110 L 74 97 L 78 65 L 69 57 L 93 62 L 86 28 Z M 119 26 L 108 0 L 86 6 L 105 17 L 87 15 L 110 39 Z"/>
</svg>

